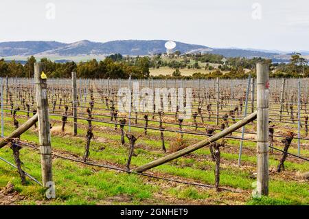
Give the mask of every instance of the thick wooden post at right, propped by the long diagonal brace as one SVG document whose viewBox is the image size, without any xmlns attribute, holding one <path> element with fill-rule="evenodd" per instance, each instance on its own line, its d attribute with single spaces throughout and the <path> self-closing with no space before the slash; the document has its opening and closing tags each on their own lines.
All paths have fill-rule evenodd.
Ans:
<svg viewBox="0 0 309 219">
<path fill-rule="evenodd" d="M 269 98 L 269 75 L 268 65 L 258 63 L 257 69 L 257 192 L 258 196 L 268 196 L 268 98 Z"/>
</svg>

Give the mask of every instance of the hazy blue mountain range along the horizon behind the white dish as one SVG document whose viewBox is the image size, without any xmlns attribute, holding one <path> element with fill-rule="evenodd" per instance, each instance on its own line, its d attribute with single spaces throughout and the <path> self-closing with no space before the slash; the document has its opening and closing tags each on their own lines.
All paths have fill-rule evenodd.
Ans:
<svg viewBox="0 0 309 219">
<path fill-rule="evenodd" d="M 166 41 L 153 40 L 124 40 L 108 41 L 98 43 L 91 41 L 78 41 L 75 43 L 60 43 L 56 41 L 15 41 L 0 43 L 0 57 L 14 56 L 39 56 L 39 57 L 67 57 L 72 56 L 106 56 L 109 54 L 122 54 L 130 56 L 144 56 L 153 54 L 163 54 Z M 238 48 L 211 48 L 205 45 L 195 45 L 188 43 L 175 42 L 174 51 L 181 53 L 211 53 L 221 54 L 225 57 L 263 57 L 276 60 L 286 60 L 290 57 L 288 52 L 267 51 L 261 49 L 238 49 Z M 303 54 L 309 54 L 309 51 L 303 51 Z"/>
</svg>

